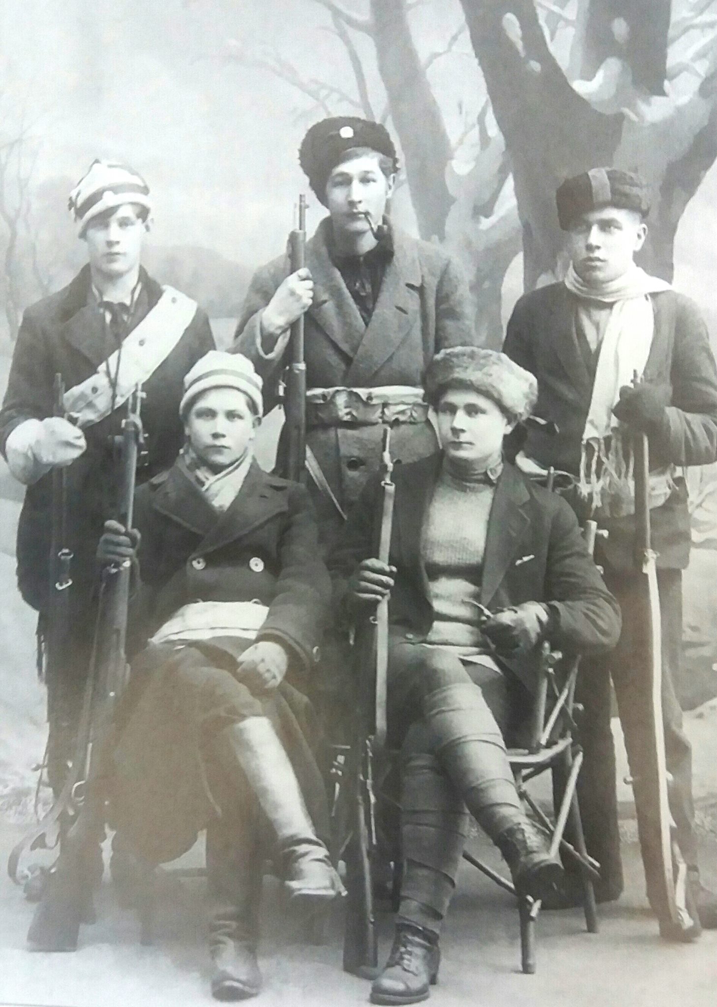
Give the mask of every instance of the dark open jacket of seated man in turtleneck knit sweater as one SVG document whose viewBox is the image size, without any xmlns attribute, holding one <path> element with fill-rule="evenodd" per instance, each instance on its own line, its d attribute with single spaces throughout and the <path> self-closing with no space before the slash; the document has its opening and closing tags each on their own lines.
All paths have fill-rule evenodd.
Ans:
<svg viewBox="0 0 717 1007">
<path fill-rule="evenodd" d="M 396 567 L 389 618 L 394 637 L 421 643 L 433 624 L 430 586 L 420 552 L 426 509 L 441 454 L 395 470 L 396 501 L 390 562 Z M 340 606 L 356 564 L 373 555 L 380 484 L 367 486 L 329 560 Z M 494 611 L 525 601 L 548 602 L 551 643 L 565 653 L 609 650 L 617 642 L 617 604 L 588 556 L 575 515 L 554 493 L 506 463 L 488 518 L 480 601 Z M 537 654 L 506 664 L 529 689 Z"/>
</svg>

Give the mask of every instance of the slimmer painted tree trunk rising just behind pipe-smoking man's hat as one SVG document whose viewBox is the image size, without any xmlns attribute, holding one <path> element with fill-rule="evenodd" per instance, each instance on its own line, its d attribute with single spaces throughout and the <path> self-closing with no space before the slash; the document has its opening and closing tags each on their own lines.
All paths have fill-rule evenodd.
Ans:
<svg viewBox="0 0 717 1007">
<path fill-rule="evenodd" d="M 445 172 L 453 155 L 443 116 L 411 36 L 405 0 L 371 0 L 371 35 L 421 237 L 445 238 L 452 197 Z"/>
</svg>

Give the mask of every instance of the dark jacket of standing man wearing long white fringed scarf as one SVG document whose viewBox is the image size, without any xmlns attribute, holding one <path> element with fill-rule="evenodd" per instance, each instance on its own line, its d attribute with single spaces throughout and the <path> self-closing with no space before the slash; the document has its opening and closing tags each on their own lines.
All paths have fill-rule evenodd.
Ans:
<svg viewBox="0 0 717 1007">
<path fill-rule="evenodd" d="M 665 434 L 651 438 L 655 466 L 704 465 L 717 458 L 717 369 L 697 306 L 675 291 L 652 294 L 655 337 L 644 380 L 670 402 Z M 562 283 L 522 297 L 508 323 L 504 351 L 538 379 L 535 414 L 557 424 L 549 436 L 531 429 L 525 452 L 542 465 L 576 474 L 594 375 L 575 328 L 576 299 Z M 616 568 L 632 563 L 632 518 L 611 521 L 605 546 Z M 683 479 L 653 512 L 653 544 L 662 567 L 685 567 L 690 549 L 687 489 Z"/>
</svg>

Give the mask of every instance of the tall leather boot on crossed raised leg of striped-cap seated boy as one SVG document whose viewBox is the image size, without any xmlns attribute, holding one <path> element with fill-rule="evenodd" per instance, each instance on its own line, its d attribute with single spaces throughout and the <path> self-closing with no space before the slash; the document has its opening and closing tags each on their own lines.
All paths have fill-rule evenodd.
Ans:
<svg viewBox="0 0 717 1007">
<path fill-rule="evenodd" d="M 246 720 L 214 739 L 223 766 L 241 766 L 276 838 L 284 884 L 292 898 L 310 902 L 335 898 L 343 886 L 328 850 L 316 836 L 293 766 L 268 717 Z"/>
</svg>

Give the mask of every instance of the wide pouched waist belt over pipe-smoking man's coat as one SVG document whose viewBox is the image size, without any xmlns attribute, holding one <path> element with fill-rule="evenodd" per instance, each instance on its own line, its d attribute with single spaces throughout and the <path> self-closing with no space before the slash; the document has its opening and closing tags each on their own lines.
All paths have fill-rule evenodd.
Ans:
<svg viewBox="0 0 717 1007">
<path fill-rule="evenodd" d="M 306 425 L 358 427 L 379 423 L 425 423 L 428 403 L 423 389 L 410 385 L 380 388 L 312 388 L 306 393 Z"/>
</svg>

